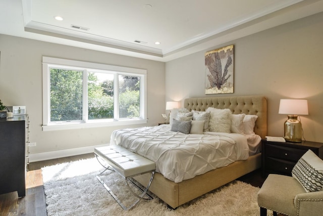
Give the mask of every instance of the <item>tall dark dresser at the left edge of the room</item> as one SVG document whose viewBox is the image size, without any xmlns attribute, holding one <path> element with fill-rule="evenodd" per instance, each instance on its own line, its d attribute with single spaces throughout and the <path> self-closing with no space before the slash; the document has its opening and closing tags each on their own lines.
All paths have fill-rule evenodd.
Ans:
<svg viewBox="0 0 323 216">
<path fill-rule="evenodd" d="M 0 118 L 0 194 L 26 195 L 26 116 Z"/>
</svg>

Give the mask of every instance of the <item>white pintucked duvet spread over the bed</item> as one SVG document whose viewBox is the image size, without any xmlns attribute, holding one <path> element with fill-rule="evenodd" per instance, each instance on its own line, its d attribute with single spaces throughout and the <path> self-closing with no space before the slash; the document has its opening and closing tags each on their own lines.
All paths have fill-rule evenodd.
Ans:
<svg viewBox="0 0 323 216">
<path fill-rule="evenodd" d="M 182 134 L 167 126 L 114 131 L 110 145 L 120 145 L 156 163 L 156 171 L 175 183 L 249 157 L 247 136 L 205 132 Z"/>
</svg>

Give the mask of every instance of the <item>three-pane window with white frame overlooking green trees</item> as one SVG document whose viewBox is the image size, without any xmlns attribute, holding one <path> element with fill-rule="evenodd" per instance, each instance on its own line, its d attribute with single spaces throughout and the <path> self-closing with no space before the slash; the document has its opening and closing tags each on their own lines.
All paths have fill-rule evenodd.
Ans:
<svg viewBox="0 0 323 216">
<path fill-rule="evenodd" d="M 43 57 L 43 131 L 146 123 L 146 70 Z"/>
</svg>

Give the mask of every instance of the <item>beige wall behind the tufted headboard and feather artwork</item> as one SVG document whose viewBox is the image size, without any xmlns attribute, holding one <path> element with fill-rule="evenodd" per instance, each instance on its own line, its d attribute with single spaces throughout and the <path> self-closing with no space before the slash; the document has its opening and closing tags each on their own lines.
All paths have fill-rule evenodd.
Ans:
<svg viewBox="0 0 323 216">
<path fill-rule="evenodd" d="M 255 33 L 166 63 L 166 100 L 264 95 L 268 135 L 284 134 L 282 98 L 308 100 L 301 116 L 304 137 L 323 142 L 323 13 Z M 204 94 L 204 53 L 234 45 L 234 93 Z"/>
</svg>

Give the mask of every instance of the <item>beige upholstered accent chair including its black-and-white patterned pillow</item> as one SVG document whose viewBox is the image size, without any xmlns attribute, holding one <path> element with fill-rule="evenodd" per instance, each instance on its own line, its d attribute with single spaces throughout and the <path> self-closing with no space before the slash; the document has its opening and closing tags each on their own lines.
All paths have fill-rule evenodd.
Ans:
<svg viewBox="0 0 323 216">
<path fill-rule="evenodd" d="M 258 192 L 260 216 L 267 209 L 286 215 L 323 215 L 323 160 L 308 150 L 296 163 L 292 177 L 270 174 Z"/>
</svg>

